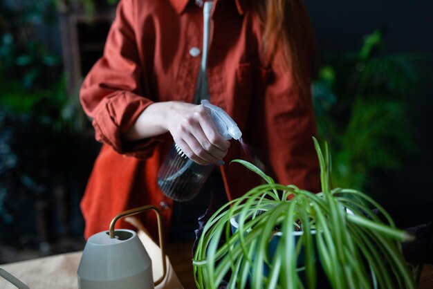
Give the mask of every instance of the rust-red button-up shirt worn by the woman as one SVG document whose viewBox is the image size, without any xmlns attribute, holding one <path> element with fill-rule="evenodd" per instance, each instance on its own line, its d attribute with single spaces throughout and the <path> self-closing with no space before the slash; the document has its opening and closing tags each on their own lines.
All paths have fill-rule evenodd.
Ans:
<svg viewBox="0 0 433 289">
<path fill-rule="evenodd" d="M 237 122 L 243 142 L 268 174 L 279 183 L 317 191 L 311 95 L 300 95 L 293 75 L 277 63 L 262 66 L 261 26 L 249 3 L 214 3 L 207 68 L 210 102 Z M 202 37 L 203 12 L 194 1 L 120 1 L 104 55 L 80 93 L 84 111 L 93 118 L 96 139 L 104 143 L 82 200 L 87 237 L 107 230 L 119 212 L 146 204 L 161 207 L 169 225 L 172 200 L 160 192 L 156 176 L 172 145 L 171 136 L 131 144 L 122 141 L 122 133 L 154 102 L 193 101 Z M 309 57 L 309 52 L 304 55 Z M 230 165 L 234 158 L 247 158 L 237 141 L 221 167 L 229 199 L 257 182 L 241 165 Z M 153 216 L 142 221 L 153 230 Z"/>
</svg>

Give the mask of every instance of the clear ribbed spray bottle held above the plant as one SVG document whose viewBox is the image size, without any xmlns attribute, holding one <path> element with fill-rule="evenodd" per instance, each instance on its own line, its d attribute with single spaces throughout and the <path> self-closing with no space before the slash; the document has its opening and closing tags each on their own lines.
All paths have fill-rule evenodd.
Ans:
<svg viewBox="0 0 433 289">
<path fill-rule="evenodd" d="M 210 104 L 208 100 L 202 100 L 201 104 L 209 109 L 210 116 L 223 138 L 241 138 L 242 133 L 236 122 L 225 111 Z M 158 171 L 158 186 L 165 196 L 176 201 L 188 201 L 199 194 L 213 168 L 214 165 L 199 165 L 190 160 L 174 143 Z"/>
</svg>

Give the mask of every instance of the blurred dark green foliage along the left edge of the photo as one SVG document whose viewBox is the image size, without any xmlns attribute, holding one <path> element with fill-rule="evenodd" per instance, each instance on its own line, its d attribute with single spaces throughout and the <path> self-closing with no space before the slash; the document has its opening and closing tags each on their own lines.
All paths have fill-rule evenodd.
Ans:
<svg viewBox="0 0 433 289">
<path fill-rule="evenodd" d="M 85 127 L 66 93 L 61 57 L 41 40 L 57 24 L 54 0 L 0 2 L 0 220 L 52 190 L 71 133 Z M 78 114 L 78 113 L 81 114 Z"/>
</svg>

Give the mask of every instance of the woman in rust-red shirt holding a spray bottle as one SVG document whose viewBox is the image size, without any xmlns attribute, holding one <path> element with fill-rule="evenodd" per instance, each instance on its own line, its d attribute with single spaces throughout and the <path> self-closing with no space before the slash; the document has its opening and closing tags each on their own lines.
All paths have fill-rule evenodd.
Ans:
<svg viewBox="0 0 433 289">
<path fill-rule="evenodd" d="M 162 209 L 176 235 L 203 213 L 209 191 L 221 203 L 221 196 L 236 198 L 256 184 L 229 164 L 246 158 L 243 147 L 217 133 L 197 105 L 203 98 L 232 116 L 279 183 L 317 190 L 312 48 L 300 0 L 120 1 L 104 55 L 80 93 L 104 143 L 82 200 L 85 236 L 147 204 Z M 165 197 L 156 182 L 173 140 L 195 162 L 218 168 L 187 205 Z M 154 230 L 153 216 L 142 221 Z"/>
</svg>

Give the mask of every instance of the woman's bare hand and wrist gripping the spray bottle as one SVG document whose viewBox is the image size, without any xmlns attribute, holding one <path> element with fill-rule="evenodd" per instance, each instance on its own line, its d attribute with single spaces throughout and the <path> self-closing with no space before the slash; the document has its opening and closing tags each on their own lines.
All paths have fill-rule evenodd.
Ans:
<svg viewBox="0 0 433 289">
<path fill-rule="evenodd" d="M 166 133 L 188 158 L 200 165 L 222 165 L 230 142 L 216 129 L 203 105 L 185 102 L 151 104 L 125 133 L 127 140 L 138 140 Z"/>
</svg>

